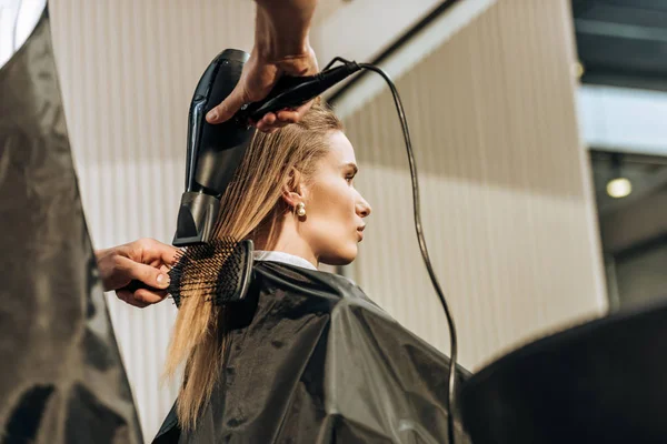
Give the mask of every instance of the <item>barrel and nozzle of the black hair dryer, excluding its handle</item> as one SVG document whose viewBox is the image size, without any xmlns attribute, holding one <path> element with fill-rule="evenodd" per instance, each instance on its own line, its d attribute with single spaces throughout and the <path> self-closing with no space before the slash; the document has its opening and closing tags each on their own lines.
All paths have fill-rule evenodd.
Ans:
<svg viewBox="0 0 667 444">
<path fill-rule="evenodd" d="M 186 192 L 181 196 L 173 245 L 210 241 L 220 198 L 255 133 L 255 128 L 230 119 L 209 124 L 206 113 L 227 98 L 239 79 L 247 52 L 227 49 L 206 69 L 190 103 Z"/>
</svg>

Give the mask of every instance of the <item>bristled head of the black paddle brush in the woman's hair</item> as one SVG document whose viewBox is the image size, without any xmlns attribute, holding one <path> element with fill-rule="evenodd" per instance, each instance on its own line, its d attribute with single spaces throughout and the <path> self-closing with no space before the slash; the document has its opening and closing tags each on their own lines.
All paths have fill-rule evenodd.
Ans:
<svg viewBox="0 0 667 444">
<path fill-rule="evenodd" d="M 182 297 L 203 297 L 220 305 L 240 289 L 245 250 L 233 238 L 188 246 L 169 271 L 169 292 L 177 305 Z"/>
</svg>

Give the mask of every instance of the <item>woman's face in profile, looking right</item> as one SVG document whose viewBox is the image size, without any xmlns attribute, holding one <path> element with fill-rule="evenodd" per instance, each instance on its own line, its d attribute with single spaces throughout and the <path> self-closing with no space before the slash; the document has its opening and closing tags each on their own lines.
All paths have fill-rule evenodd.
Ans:
<svg viewBox="0 0 667 444">
<path fill-rule="evenodd" d="M 306 216 L 299 231 L 320 262 L 344 265 L 357 258 L 370 205 L 355 189 L 357 160 L 348 138 L 332 131 L 329 148 L 305 188 Z"/>
</svg>

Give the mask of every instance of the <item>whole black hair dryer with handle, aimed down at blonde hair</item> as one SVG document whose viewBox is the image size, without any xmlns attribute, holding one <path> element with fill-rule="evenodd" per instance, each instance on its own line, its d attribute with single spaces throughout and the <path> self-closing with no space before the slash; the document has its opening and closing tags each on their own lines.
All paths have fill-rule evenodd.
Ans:
<svg viewBox="0 0 667 444">
<path fill-rule="evenodd" d="M 227 122 L 208 123 L 206 113 L 231 93 L 249 57 L 236 49 L 222 51 L 206 69 L 195 90 L 188 115 L 186 191 L 172 242 L 176 246 L 211 240 L 220 198 L 256 131 L 250 122 L 268 112 L 303 104 L 360 69 L 357 63 L 347 62 L 316 75 L 282 77 L 263 100 L 246 104 Z"/>
</svg>

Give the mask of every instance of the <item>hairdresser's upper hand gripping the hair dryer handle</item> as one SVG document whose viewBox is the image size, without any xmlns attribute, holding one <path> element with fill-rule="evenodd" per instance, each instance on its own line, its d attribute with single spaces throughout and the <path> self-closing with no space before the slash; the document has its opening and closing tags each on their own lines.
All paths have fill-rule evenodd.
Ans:
<svg viewBox="0 0 667 444">
<path fill-rule="evenodd" d="M 252 51 L 243 67 L 241 79 L 235 90 L 207 114 L 209 123 L 221 123 L 230 119 L 245 103 L 257 102 L 269 94 L 281 75 L 310 75 L 318 72 L 317 60 L 312 49 L 302 54 L 271 60 Z M 311 107 L 308 102 L 293 110 L 281 110 L 267 113 L 256 127 L 260 131 L 272 132 L 289 123 L 298 122 Z"/>
</svg>

